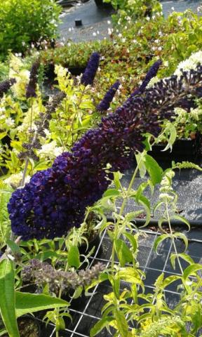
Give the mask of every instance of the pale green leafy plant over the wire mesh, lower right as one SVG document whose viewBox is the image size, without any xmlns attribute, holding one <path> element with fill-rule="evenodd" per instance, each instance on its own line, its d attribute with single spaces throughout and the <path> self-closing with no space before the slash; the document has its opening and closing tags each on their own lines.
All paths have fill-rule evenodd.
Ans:
<svg viewBox="0 0 202 337">
<path fill-rule="evenodd" d="M 172 187 L 172 179 L 175 169 L 201 168 L 191 163 L 173 164 L 173 169 L 163 172 L 161 167 L 149 157 L 147 152 L 137 156 L 137 167 L 130 180 L 128 188 L 121 185 L 121 175 L 114 173 L 114 188 L 107 190 L 102 199 L 92 207 L 91 211 L 100 213 L 100 224 L 97 228 L 101 231 L 107 229 L 107 234 L 112 241 L 112 257 L 110 260 L 107 279 L 112 292 L 104 295 L 105 305 L 102 308 L 102 318 L 90 331 L 90 336 L 96 336 L 103 329 L 107 329 L 112 336 L 198 336 L 201 329 L 201 277 L 198 270 L 200 264 L 187 255 L 188 240 L 182 232 L 174 232 L 172 220 L 181 220 L 189 227 L 189 222 L 177 214 L 177 194 Z M 134 188 L 138 170 L 149 173 L 149 179 Z M 160 183 L 159 201 L 150 208 L 150 202 L 144 195 L 149 187 L 151 194 L 154 192 L 156 183 Z M 127 213 L 125 208 L 128 199 L 133 199 L 134 211 Z M 116 204 L 121 200 L 121 207 Z M 103 216 L 106 205 L 111 207 L 112 220 Z M 154 249 L 158 252 L 164 240 L 170 240 L 173 253 L 170 262 L 173 266 L 173 275 L 165 277 L 159 275 L 154 284 L 153 293 L 145 293 L 145 275 L 137 262 L 138 241 L 144 232 L 135 226 L 135 218 L 143 211 L 145 224 L 149 223 L 150 210 L 159 211 L 159 230 L 161 233 L 154 242 Z M 161 210 L 160 210 L 161 209 Z M 168 223 L 168 231 L 163 230 L 163 222 Z M 113 230 L 110 230 L 110 226 Z M 177 251 L 177 240 L 184 242 L 184 251 Z M 182 261 L 186 261 L 187 267 L 182 267 Z M 180 274 L 174 270 L 180 268 Z M 147 281 L 147 277 L 146 277 Z M 180 303 L 170 308 L 164 290 L 180 282 Z M 94 283 L 95 285 L 95 283 Z M 90 287 L 89 287 L 90 288 Z M 197 308 L 197 309 L 196 309 Z M 196 311 L 195 311 L 196 310 Z M 193 312 L 193 315 L 191 314 Z M 197 312 L 197 313 L 196 313 Z M 199 318 L 199 321 L 198 321 Z M 189 324 L 187 324 L 189 322 Z"/>
</svg>

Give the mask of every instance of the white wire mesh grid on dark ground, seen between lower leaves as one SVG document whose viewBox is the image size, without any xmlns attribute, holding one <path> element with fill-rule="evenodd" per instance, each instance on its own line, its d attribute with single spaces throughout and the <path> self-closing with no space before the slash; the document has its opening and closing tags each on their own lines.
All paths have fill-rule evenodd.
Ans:
<svg viewBox="0 0 202 337">
<path fill-rule="evenodd" d="M 146 279 L 145 292 L 151 293 L 154 289 L 154 282 L 156 278 L 163 272 L 165 277 L 169 275 L 180 275 L 179 265 L 173 270 L 170 264 L 170 253 L 174 251 L 172 242 L 165 240 L 159 246 L 157 253 L 154 251 L 154 242 L 159 236 L 159 232 L 152 230 L 141 230 L 140 242 L 139 242 L 139 252 L 137 254 L 137 261 L 140 264 L 140 269 L 145 273 Z M 187 234 L 189 239 L 189 247 L 187 253 L 193 258 L 195 263 L 202 263 L 202 230 L 192 230 Z M 182 251 L 184 249 L 183 242 L 177 241 L 177 251 Z M 100 239 L 100 245 L 97 247 L 94 256 L 90 257 L 91 267 L 93 264 L 99 262 L 105 263 L 106 266 L 110 263 L 112 253 L 112 244 L 107 235 L 107 231 L 103 232 Z M 117 261 L 115 261 L 117 263 Z M 182 261 L 182 267 L 187 267 L 187 263 Z M 166 302 L 170 308 L 174 307 L 180 300 L 180 293 L 177 289 L 177 282 L 175 284 L 170 284 L 165 290 Z M 122 282 L 121 288 L 126 289 L 128 284 Z M 89 337 L 90 329 L 95 325 L 95 323 L 101 317 L 101 310 L 103 305 L 105 305 L 105 300 L 103 296 L 112 291 L 112 287 L 109 283 L 104 282 L 95 286 L 90 297 L 81 296 L 79 303 L 72 302 L 72 307 L 70 306 L 69 311 L 72 315 L 72 322 L 70 319 L 66 322 L 66 329 L 60 331 L 60 337 Z M 46 329 L 43 336 L 54 337 L 55 336 L 55 326 L 53 324 L 48 324 L 48 329 Z M 97 337 L 109 337 L 112 336 L 107 333 L 106 330 L 101 331 Z"/>
</svg>

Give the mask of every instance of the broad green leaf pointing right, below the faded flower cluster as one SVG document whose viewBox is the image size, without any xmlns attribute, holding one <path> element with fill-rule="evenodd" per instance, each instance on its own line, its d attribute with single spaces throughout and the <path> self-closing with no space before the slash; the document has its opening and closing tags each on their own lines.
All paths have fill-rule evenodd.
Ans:
<svg viewBox="0 0 202 337">
<path fill-rule="evenodd" d="M 46 296 L 41 293 L 21 293 L 20 291 L 15 291 L 15 312 L 17 317 L 29 312 L 68 306 L 69 303 L 61 298 Z"/>
</svg>

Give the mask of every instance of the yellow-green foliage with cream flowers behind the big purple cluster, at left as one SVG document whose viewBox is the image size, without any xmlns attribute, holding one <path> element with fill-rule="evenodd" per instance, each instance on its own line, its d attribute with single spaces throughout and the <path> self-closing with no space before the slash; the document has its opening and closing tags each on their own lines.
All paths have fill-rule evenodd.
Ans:
<svg viewBox="0 0 202 337">
<path fill-rule="evenodd" d="M 46 100 L 37 85 L 37 97 L 32 103 L 25 98 L 29 71 L 20 58 L 11 55 L 10 74 L 17 80 L 10 93 L 0 100 L 0 166 L 7 169 L 6 183 L 18 187 L 22 179 L 25 162 L 18 154 L 23 151 L 23 143 L 29 140 L 31 123 L 37 123 L 41 113 L 46 112 Z M 97 123 L 100 114 L 96 111 L 96 98 L 90 87 L 84 87 L 79 80 L 70 77 L 67 69 L 56 65 L 58 88 L 67 94 L 62 104 L 52 114 L 49 130 L 41 138 L 42 147 L 35 150 L 39 161 L 29 160 L 27 175 L 47 169 L 55 157 L 69 150 L 81 135 Z M 12 175 L 12 176 L 11 176 Z M 1 178 L 2 179 L 2 178 Z"/>
</svg>

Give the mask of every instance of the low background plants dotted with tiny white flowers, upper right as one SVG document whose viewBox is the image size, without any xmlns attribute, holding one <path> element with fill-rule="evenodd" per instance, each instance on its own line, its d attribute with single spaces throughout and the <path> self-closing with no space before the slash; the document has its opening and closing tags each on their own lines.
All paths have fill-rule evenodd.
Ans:
<svg viewBox="0 0 202 337">
<path fill-rule="evenodd" d="M 151 18 L 142 15 L 139 20 L 133 20 L 133 15 L 128 13 L 123 15 L 123 20 L 119 20 L 118 15 L 117 25 L 109 29 L 109 40 L 79 44 L 68 41 L 65 46 L 43 51 L 41 58 L 45 64 L 85 67 L 90 53 L 97 51 L 102 59 L 95 90 L 101 93 L 103 89 L 106 91 L 108 85 L 113 84 L 121 74 L 124 84 L 120 97 L 122 104 L 157 59 L 163 60 L 158 74 L 159 78 L 163 78 L 173 74 L 179 62 L 189 58 L 191 53 L 201 50 L 201 15 L 190 10 L 184 13 L 173 11 L 168 18 L 164 18 L 161 4 L 158 4 L 158 11 L 155 4 Z"/>
</svg>

